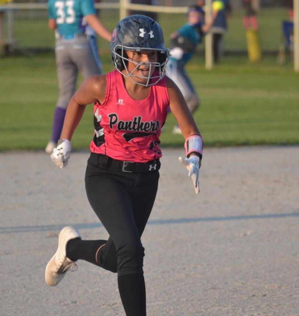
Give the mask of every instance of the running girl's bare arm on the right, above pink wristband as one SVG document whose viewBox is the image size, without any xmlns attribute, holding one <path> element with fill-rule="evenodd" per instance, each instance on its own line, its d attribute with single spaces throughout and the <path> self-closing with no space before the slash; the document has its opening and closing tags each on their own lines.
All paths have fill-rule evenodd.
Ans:
<svg viewBox="0 0 299 316">
<path fill-rule="evenodd" d="M 181 91 L 176 86 L 176 84 L 168 77 L 167 77 L 167 88 L 168 88 L 168 94 L 170 98 L 170 104 L 169 104 L 170 110 L 172 114 L 175 116 L 178 125 L 180 126 L 183 137 L 187 139 L 188 137 L 192 135 L 201 136 L 200 131 L 197 128 L 194 118 L 186 104 L 186 101 Z"/>
</svg>

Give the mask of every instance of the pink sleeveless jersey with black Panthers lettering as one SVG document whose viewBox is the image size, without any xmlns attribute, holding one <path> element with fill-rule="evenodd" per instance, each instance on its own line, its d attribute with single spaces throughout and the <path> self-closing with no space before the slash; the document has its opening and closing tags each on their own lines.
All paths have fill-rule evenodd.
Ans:
<svg viewBox="0 0 299 316">
<path fill-rule="evenodd" d="M 94 104 L 95 134 L 90 144 L 94 153 L 113 159 L 147 162 L 162 157 L 159 147 L 169 95 L 166 77 L 150 87 L 144 100 L 131 98 L 117 70 L 107 74 L 103 104 Z"/>
</svg>

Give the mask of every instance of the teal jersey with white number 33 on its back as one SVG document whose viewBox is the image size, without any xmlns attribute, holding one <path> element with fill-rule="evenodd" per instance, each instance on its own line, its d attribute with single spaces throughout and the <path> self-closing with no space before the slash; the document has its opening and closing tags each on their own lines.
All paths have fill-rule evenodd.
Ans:
<svg viewBox="0 0 299 316">
<path fill-rule="evenodd" d="M 55 19 L 60 35 L 85 33 L 85 15 L 95 14 L 93 0 L 49 0 L 48 17 Z"/>
</svg>

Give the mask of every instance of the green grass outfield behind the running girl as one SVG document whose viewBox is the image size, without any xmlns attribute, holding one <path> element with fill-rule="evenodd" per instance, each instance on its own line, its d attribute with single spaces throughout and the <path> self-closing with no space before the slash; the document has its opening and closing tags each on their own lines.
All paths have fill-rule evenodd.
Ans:
<svg viewBox="0 0 299 316">
<path fill-rule="evenodd" d="M 273 29 L 275 26 L 278 32 L 279 21 L 275 21 L 278 16 L 279 19 L 284 17 L 286 11 L 274 10 L 274 17 L 267 10 L 263 12 L 270 27 Z M 182 20 L 182 15 L 178 16 Z M 110 21 L 110 28 L 116 20 Z M 165 20 L 165 33 L 170 33 Z M 171 21 L 174 23 L 173 19 Z M 238 45 L 236 48 L 243 47 L 242 21 L 240 26 L 237 24 L 240 21 L 236 18 L 231 20 L 236 36 L 232 31 L 227 33 L 226 47 L 230 49 Z M 41 42 L 44 47 L 54 44 L 53 34 L 46 28 L 42 41 L 41 36 L 28 36 L 22 23 L 20 20 L 20 24 L 16 25 L 16 34 L 24 46 L 26 42 L 28 46 L 39 47 L 42 47 Z M 38 20 L 38 23 L 44 25 L 46 21 Z M 22 35 L 19 35 L 19 30 L 22 30 Z M 270 38 L 267 34 L 265 40 L 269 42 L 269 49 L 278 48 L 280 40 L 277 33 L 271 33 Z M 236 37 L 239 37 L 238 41 Z M 104 70 L 107 72 L 112 70 L 112 63 L 107 44 L 103 43 L 102 47 Z M 187 70 L 201 98 L 194 118 L 205 146 L 299 143 L 299 74 L 294 73 L 291 63 L 281 67 L 276 57 L 264 57 L 259 64 L 249 63 L 245 56 L 224 57 L 221 64 L 208 71 L 203 58 L 196 56 Z M 43 149 L 51 136 L 57 97 L 54 54 L 0 59 L 0 150 Z M 182 146 L 182 136 L 171 133 L 174 124 L 175 119 L 170 114 L 161 136 L 162 145 Z M 92 106 L 88 106 L 75 131 L 73 147 L 88 148 L 92 137 Z"/>
</svg>

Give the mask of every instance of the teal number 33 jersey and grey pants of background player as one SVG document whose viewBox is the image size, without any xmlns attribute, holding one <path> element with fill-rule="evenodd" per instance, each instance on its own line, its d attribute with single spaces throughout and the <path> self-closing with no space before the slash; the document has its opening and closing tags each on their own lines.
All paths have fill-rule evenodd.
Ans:
<svg viewBox="0 0 299 316">
<path fill-rule="evenodd" d="M 55 55 L 59 99 L 56 106 L 59 108 L 66 109 L 75 93 L 78 71 L 85 79 L 101 74 L 84 19 L 95 13 L 93 0 L 48 1 L 48 17 L 55 19 L 57 24 Z"/>
</svg>

